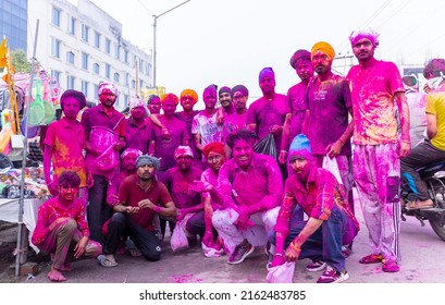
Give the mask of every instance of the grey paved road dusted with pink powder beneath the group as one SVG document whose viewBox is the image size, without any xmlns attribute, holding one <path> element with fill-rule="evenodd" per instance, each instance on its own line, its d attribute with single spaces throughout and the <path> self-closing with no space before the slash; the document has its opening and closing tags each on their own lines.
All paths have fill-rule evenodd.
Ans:
<svg viewBox="0 0 445 305">
<path fill-rule="evenodd" d="M 357 207 L 357 205 L 356 205 Z M 445 242 L 441 241 L 430 224 L 409 218 L 401 223 L 401 270 L 397 273 L 381 271 L 381 265 L 360 265 L 360 257 L 369 254 L 368 232 L 361 218 L 360 208 L 356 208 L 361 231 L 354 253 L 347 259 L 348 283 L 445 283 Z M 261 283 L 264 282 L 267 257 L 263 249 L 257 249 L 243 264 L 226 264 L 227 256 L 206 258 L 199 247 L 172 253 L 168 245 L 160 261 L 150 263 L 141 257 L 128 254 L 118 256 L 119 266 L 102 268 L 96 260 L 83 260 L 73 264 L 74 270 L 66 273 L 69 283 Z M 314 283 L 320 272 L 307 272 L 308 260 L 296 266 L 294 282 Z M 40 264 L 40 272 L 34 278 L 21 282 L 47 283 L 49 264 Z"/>
</svg>

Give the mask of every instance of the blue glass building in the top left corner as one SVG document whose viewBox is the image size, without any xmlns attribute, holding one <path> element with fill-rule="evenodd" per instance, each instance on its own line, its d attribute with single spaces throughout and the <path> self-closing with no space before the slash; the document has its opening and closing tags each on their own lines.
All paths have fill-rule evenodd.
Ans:
<svg viewBox="0 0 445 305">
<path fill-rule="evenodd" d="M 28 0 L 0 1 L 0 39 L 8 38 L 12 50 L 26 50 Z"/>
</svg>

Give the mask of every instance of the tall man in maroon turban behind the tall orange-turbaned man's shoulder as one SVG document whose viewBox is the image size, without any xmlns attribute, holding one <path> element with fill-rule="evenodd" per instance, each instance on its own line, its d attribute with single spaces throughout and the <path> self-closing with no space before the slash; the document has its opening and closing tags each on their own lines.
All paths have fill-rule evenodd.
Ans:
<svg viewBox="0 0 445 305">
<path fill-rule="evenodd" d="M 292 110 L 292 115 L 286 119 L 283 129 L 283 138 L 279 156 L 279 161 L 282 164 L 287 163 L 289 144 L 297 134 L 301 133 L 307 108 L 305 101 L 306 88 L 308 87 L 309 80 L 313 76 L 310 52 L 307 50 L 297 50 L 291 58 L 291 65 L 295 69 L 301 82 L 287 90 L 286 102 Z"/>
</svg>

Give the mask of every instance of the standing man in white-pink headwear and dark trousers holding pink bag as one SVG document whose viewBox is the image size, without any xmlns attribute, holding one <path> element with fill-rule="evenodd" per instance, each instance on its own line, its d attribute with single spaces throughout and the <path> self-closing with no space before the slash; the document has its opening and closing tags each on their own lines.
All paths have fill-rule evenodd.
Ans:
<svg viewBox="0 0 445 305">
<path fill-rule="evenodd" d="M 89 188 L 87 208 L 91 239 L 103 242 L 102 224 L 110 218 L 106 204 L 109 178 L 119 172 L 119 151 L 125 147 L 125 118 L 114 109 L 118 88 L 101 83 L 98 89 L 100 103 L 82 113 L 82 125 L 86 134 L 87 171 L 92 173 L 94 185 Z"/>
</svg>

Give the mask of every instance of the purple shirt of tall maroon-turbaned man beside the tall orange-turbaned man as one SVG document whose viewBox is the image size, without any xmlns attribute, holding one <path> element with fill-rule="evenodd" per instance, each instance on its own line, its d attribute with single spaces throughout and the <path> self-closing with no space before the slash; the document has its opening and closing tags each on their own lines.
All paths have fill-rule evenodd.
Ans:
<svg viewBox="0 0 445 305">
<path fill-rule="evenodd" d="M 292 111 L 292 121 L 291 121 L 291 133 L 289 142 L 294 139 L 296 135 L 301 133 L 302 122 L 305 121 L 306 115 L 306 88 L 308 87 L 305 83 L 298 83 L 295 86 L 292 86 L 287 91 L 286 102 L 287 107 Z"/>
</svg>

